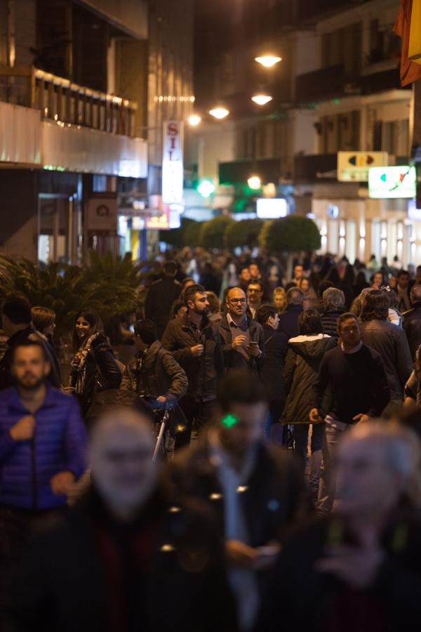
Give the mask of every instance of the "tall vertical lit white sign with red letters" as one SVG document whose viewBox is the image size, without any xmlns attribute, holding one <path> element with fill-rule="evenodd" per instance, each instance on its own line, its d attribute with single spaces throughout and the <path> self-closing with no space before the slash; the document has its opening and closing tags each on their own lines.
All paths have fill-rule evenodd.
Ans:
<svg viewBox="0 0 421 632">
<path fill-rule="evenodd" d="M 182 121 L 163 124 L 162 202 L 181 204 L 183 190 Z"/>
</svg>

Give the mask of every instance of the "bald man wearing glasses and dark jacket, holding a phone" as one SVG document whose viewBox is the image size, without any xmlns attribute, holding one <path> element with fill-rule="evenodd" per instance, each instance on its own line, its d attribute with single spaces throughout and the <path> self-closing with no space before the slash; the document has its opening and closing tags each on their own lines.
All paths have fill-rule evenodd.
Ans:
<svg viewBox="0 0 421 632">
<path fill-rule="evenodd" d="M 248 318 L 247 298 L 240 287 L 227 293 L 227 314 L 219 326 L 225 369 L 248 369 L 258 373 L 265 354 L 262 326 Z"/>
</svg>

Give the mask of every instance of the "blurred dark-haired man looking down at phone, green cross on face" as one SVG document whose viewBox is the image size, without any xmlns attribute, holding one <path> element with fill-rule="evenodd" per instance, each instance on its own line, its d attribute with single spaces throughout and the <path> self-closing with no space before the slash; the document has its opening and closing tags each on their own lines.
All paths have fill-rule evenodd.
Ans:
<svg viewBox="0 0 421 632">
<path fill-rule="evenodd" d="M 260 381 L 232 371 L 220 384 L 213 426 L 169 469 L 175 490 L 215 512 L 242 630 L 250 630 L 282 532 L 307 508 L 298 466 L 265 442 Z"/>
</svg>

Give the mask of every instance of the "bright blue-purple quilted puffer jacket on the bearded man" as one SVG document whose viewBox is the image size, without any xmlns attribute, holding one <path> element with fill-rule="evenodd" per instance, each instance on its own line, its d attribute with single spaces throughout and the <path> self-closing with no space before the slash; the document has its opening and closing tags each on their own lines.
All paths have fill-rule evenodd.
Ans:
<svg viewBox="0 0 421 632">
<path fill-rule="evenodd" d="M 76 478 L 86 466 L 86 430 L 79 405 L 69 395 L 47 386 L 36 412 L 33 440 L 14 441 L 9 430 L 29 414 L 18 389 L 0 392 L 0 504 L 22 509 L 52 509 L 65 504 L 55 496 L 51 478 L 70 470 Z"/>
</svg>

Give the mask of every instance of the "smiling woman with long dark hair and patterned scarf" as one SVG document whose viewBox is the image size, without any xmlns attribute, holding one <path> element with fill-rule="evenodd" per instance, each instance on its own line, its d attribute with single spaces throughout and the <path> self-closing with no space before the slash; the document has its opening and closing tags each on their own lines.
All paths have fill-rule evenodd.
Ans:
<svg viewBox="0 0 421 632">
<path fill-rule="evenodd" d="M 94 310 L 81 310 L 76 314 L 69 387 L 79 400 L 83 416 L 95 393 L 119 388 L 121 382 L 119 365 L 101 329 L 100 318 Z"/>
</svg>

